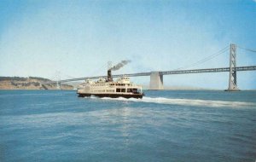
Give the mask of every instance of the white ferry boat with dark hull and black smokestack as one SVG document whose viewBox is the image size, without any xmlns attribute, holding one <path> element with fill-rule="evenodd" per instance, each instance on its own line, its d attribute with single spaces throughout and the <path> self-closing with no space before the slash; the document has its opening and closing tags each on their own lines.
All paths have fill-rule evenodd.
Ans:
<svg viewBox="0 0 256 162">
<path fill-rule="evenodd" d="M 128 77 L 118 78 L 113 81 L 111 70 L 108 70 L 108 78 L 99 78 L 97 81 L 87 79 L 80 84 L 77 90 L 79 97 L 95 95 L 98 97 L 124 97 L 143 98 L 141 85 L 133 84 Z"/>
</svg>

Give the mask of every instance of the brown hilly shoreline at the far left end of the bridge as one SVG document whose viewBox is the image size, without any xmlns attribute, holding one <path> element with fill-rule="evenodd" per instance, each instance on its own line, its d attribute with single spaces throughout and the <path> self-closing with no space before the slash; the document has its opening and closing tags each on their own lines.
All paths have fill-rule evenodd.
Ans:
<svg viewBox="0 0 256 162">
<path fill-rule="evenodd" d="M 0 77 L 0 90 L 57 90 L 56 84 L 41 84 L 48 81 L 39 77 Z M 73 86 L 61 84 L 61 90 L 73 90 Z"/>
</svg>

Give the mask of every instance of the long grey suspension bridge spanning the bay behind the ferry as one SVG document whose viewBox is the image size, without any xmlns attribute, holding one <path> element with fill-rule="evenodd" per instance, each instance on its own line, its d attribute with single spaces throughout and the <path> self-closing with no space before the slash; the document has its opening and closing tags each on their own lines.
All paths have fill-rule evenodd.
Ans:
<svg viewBox="0 0 256 162">
<path fill-rule="evenodd" d="M 126 73 L 126 74 L 119 74 L 119 75 L 113 75 L 113 78 L 120 78 L 120 77 L 141 77 L 141 76 L 150 76 L 150 84 L 149 89 L 150 90 L 164 90 L 164 81 L 163 76 L 164 75 L 176 75 L 176 74 L 189 74 L 189 73 L 203 73 L 203 72 L 230 72 L 230 78 L 229 78 L 229 87 L 228 91 L 236 91 L 239 90 L 237 87 L 237 75 L 236 72 L 241 71 L 255 71 L 256 66 L 247 66 L 247 67 L 236 67 L 236 48 L 239 46 L 236 46 L 236 44 L 230 44 L 230 48 L 226 47 L 224 49 L 221 49 L 217 54 L 210 55 L 207 58 L 197 61 L 192 65 L 189 65 L 189 67 L 194 67 L 198 64 L 201 64 L 203 62 L 209 61 L 212 58 L 223 54 L 227 49 L 230 49 L 230 66 L 229 67 L 219 67 L 219 68 L 204 68 L 204 69 L 190 69 L 190 70 L 182 70 L 186 67 L 181 67 L 175 70 L 171 71 L 154 71 L 154 72 L 137 72 L 137 73 Z M 242 47 L 239 47 L 241 49 L 245 49 Z M 245 49 L 251 52 L 255 52 L 253 49 Z M 97 78 L 107 78 L 107 76 L 94 76 L 94 77 L 84 77 L 84 78 L 71 78 L 71 79 L 63 79 L 58 81 L 52 81 L 50 83 L 44 83 L 44 84 L 57 84 L 57 86 L 60 86 L 62 83 L 67 82 L 73 82 L 73 81 L 80 81 L 80 80 L 86 80 L 86 79 L 97 79 Z"/>
</svg>

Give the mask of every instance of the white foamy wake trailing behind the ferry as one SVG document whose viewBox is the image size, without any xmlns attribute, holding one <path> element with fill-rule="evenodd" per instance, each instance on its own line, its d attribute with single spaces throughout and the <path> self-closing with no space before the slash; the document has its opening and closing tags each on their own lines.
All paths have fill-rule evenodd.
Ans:
<svg viewBox="0 0 256 162">
<path fill-rule="evenodd" d="M 137 101 L 137 102 L 148 102 L 148 103 L 159 103 L 169 105 L 184 105 L 184 106 L 195 106 L 195 107 L 256 107 L 256 103 L 253 102 L 242 102 L 242 101 L 212 101 L 212 100 L 194 100 L 194 99 L 173 99 L 164 97 L 143 97 L 143 99 L 126 99 L 123 97 L 109 98 L 103 97 L 102 100 L 111 101 Z"/>
</svg>

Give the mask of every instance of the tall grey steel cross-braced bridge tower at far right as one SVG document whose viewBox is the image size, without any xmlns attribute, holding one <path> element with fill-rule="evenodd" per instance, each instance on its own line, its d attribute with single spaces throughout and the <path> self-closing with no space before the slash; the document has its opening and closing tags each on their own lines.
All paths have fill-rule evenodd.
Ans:
<svg viewBox="0 0 256 162">
<path fill-rule="evenodd" d="M 229 79 L 229 88 L 226 91 L 236 91 L 237 88 L 236 82 L 236 44 L 230 44 L 230 79 Z"/>
</svg>

